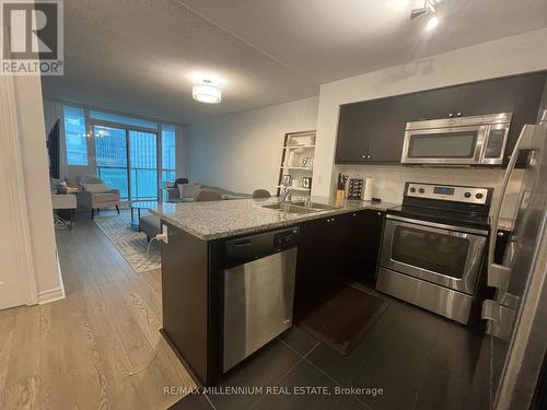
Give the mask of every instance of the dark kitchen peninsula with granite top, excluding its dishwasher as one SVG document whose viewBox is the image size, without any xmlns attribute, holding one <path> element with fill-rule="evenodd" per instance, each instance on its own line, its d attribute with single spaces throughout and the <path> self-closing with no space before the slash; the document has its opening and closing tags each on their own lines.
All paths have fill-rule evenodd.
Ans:
<svg viewBox="0 0 547 410">
<path fill-rule="evenodd" d="M 159 203 L 150 211 L 167 231 L 162 244 L 163 336 L 197 383 L 216 385 L 223 374 L 223 272 L 234 265 L 228 256 L 232 239 L 293 230 L 296 321 L 338 283 L 371 279 L 384 212 L 396 206 L 323 198 L 305 203 L 277 198 Z"/>
</svg>

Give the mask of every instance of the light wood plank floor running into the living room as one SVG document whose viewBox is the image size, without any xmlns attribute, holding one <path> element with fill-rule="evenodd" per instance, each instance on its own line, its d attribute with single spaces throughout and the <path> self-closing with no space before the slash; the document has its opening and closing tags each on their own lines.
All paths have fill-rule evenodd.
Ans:
<svg viewBox="0 0 547 410">
<path fill-rule="evenodd" d="M 195 384 L 158 331 L 161 270 L 136 273 L 88 213 L 56 233 L 67 297 L 0 312 L 0 409 L 166 409 Z"/>
</svg>

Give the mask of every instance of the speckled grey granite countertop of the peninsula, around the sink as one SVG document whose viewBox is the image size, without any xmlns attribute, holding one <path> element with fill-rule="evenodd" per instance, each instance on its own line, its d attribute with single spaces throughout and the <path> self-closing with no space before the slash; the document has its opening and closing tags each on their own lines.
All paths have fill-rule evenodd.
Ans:
<svg viewBox="0 0 547 410">
<path fill-rule="evenodd" d="M 159 202 L 158 207 L 150 209 L 150 212 L 200 239 L 210 241 L 252 234 L 351 211 L 363 209 L 385 211 L 398 206 L 398 203 L 356 200 L 345 200 L 341 204 L 336 206 L 334 199 L 313 197 L 313 202 L 336 206 L 337 208 L 294 214 L 263 207 L 278 201 L 278 198 L 271 198 L 213 202 Z"/>
</svg>

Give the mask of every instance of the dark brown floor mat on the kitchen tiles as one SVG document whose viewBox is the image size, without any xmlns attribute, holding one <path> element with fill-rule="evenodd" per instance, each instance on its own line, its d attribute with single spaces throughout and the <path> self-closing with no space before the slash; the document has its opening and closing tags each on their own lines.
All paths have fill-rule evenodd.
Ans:
<svg viewBox="0 0 547 410">
<path fill-rule="evenodd" d="M 330 349 L 349 355 L 387 306 L 382 298 L 346 285 L 298 326 Z"/>
</svg>

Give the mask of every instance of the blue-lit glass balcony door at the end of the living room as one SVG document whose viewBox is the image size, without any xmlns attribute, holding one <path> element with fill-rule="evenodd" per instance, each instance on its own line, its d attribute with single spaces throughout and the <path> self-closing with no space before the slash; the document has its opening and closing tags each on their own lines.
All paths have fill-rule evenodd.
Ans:
<svg viewBox="0 0 547 410">
<path fill-rule="evenodd" d="M 158 199 L 158 133 L 93 125 L 97 175 L 124 201 Z"/>
</svg>

